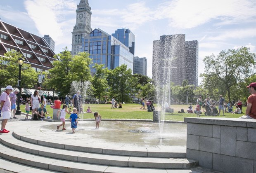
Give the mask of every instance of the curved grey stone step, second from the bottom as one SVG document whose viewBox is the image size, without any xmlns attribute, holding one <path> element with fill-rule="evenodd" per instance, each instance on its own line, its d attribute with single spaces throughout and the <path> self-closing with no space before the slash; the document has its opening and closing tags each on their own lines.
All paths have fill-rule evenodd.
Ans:
<svg viewBox="0 0 256 173">
<path fill-rule="evenodd" d="M 2 136 L 1 136 L 2 138 Z M 42 168 L 50 171 L 60 171 L 60 172 L 72 172 L 72 173 L 87 173 L 87 172 L 101 172 L 101 173 L 166 173 L 166 172 L 176 172 L 176 173 L 189 173 L 190 170 L 177 170 L 177 169 L 156 169 L 156 168 L 133 168 L 133 167 L 123 167 L 123 166 L 107 166 L 98 165 L 98 163 L 87 164 L 76 161 L 66 161 L 61 159 L 47 158 L 35 154 L 29 154 L 26 152 L 21 152 L 14 150 L 13 148 L 7 147 L 0 144 L 0 157 L 24 165 L 29 165 L 32 167 Z M 15 164 L 16 164 L 15 163 Z"/>
</svg>

